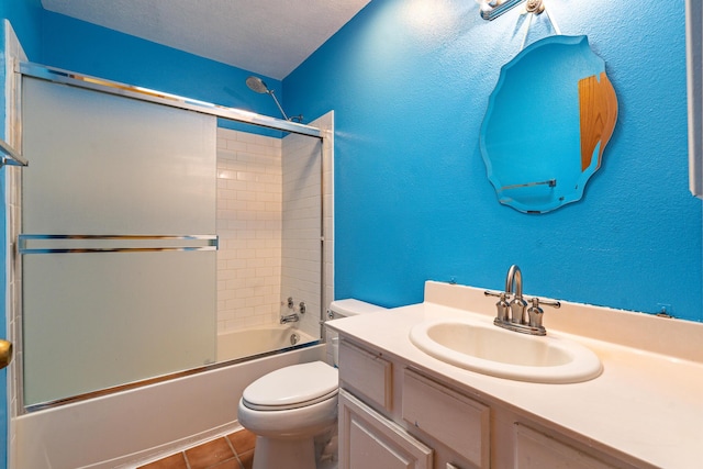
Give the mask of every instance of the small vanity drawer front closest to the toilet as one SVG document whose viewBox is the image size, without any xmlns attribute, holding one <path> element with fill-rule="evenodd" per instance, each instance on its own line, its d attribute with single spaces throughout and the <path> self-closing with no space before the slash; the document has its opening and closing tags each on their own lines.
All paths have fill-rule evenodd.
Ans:
<svg viewBox="0 0 703 469">
<path fill-rule="evenodd" d="M 339 340 L 339 379 L 348 387 L 388 411 L 392 407 L 392 371 L 390 361 L 347 340 Z"/>
</svg>

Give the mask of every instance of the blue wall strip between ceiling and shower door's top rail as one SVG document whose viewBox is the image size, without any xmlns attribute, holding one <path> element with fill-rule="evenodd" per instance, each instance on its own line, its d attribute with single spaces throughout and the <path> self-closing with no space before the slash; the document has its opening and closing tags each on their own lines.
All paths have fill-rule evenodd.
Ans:
<svg viewBox="0 0 703 469">
<path fill-rule="evenodd" d="M 256 74 L 242 68 L 51 11 L 43 14 L 42 38 L 41 57 L 30 57 L 33 62 L 266 115 L 279 114 L 269 96 L 246 87 L 246 78 Z M 260 77 L 279 98 L 283 96 L 279 80 Z M 222 120 L 220 124 L 237 127 Z"/>
</svg>

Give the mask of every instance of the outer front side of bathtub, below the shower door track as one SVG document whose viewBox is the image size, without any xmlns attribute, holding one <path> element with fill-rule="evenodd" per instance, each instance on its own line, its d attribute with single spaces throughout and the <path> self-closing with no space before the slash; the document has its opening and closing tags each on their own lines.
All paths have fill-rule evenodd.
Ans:
<svg viewBox="0 0 703 469">
<path fill-rule="evenodd" d="M 290 340 L 290 332 L 282 336 Z M 11 422 L 9 467 L 126 469 L 157 460 L 238 429 L 244 388 L 275 369 L 314 360 L 325 360 L 324 344 L 21 415 Z"/>
</svg>

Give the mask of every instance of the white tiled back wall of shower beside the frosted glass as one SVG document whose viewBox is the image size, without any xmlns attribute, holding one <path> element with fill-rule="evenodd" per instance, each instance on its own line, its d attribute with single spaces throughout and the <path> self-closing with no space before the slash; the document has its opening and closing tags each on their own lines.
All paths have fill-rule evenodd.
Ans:
<svg viewBox="0 0 703 469">
<path fill-rule="evenodd" d="M 217 332 L 278 321 L 281 139 L 217 129 Z"/>
</svg>

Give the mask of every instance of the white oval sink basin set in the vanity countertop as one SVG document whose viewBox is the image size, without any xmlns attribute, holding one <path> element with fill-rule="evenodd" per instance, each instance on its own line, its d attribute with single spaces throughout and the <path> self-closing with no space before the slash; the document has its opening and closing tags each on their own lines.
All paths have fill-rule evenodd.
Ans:
<svg viewBox="0 0 703 469">
<path fill-rule="evenodd" d="M 602 370 L 598 356 L 576 342 L 520 334 L 478 321 L 426 321 L 410 331 L 410 340 L 447 364 L 520 381 L 581 382 Z"/>
</svg>

